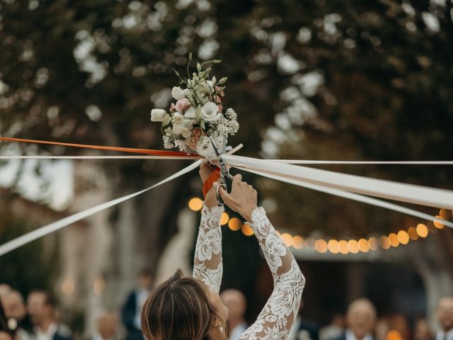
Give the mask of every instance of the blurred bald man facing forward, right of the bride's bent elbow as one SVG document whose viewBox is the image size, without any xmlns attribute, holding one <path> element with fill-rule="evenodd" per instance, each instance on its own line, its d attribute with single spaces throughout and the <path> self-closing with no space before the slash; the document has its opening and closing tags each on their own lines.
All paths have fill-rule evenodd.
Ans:
<svg viewBox="0 0 453 340">
<path fill-rule="evenodd" d="M 374 340 L 373 329 L 376 323 L 376 308 L 368 299 L 352 301 L 346 314 L 348 328 L 334 340 Z"/>
</svg>

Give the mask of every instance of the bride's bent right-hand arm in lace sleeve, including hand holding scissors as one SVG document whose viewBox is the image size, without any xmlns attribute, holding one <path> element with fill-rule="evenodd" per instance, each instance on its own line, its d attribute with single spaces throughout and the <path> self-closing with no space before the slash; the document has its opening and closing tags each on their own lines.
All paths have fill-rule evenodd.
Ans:
<svg viewBox="0 0 453 340">
<path fill-rule="evenodd" d="M 305 278 L 263 208 L 257 207 L 252 186 L 234 176 L 231 193 L 219 188 L 225 203 L 249 221 L 274 278 L 274 289 L 263 310 L 241 336 L 246 339 L 286 339 L 299 310 Z"/>
</svg>

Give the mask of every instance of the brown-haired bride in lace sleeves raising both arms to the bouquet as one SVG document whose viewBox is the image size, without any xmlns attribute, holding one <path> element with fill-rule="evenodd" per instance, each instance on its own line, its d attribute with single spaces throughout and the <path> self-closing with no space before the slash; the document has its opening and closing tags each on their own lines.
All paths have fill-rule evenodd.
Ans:
<svg viewBox="0 0 453 340">
<path fill-rule="evenodd" d="M 211 175 L 200 166 L 202 181 Z M 195 246 L 193 278 L 177 271 L 147 297 L 142 309 L 142 331 L 147 340 L 226 340 L 228 310 L 219 297 L 222 282 L 222 230 L 216 189 L 226 205 L 248 221 L 273 274 L 274 289 L 265 307 L 241 336 L 246 339 L 286 339 L 302 297 L 305 278 L 291 252 L 275 232 L 263 208 L 257 207 L 252 186 L 234 176 L 231 193 L 219 187 L 208 191 L 202 208 Z"/>
</svg>

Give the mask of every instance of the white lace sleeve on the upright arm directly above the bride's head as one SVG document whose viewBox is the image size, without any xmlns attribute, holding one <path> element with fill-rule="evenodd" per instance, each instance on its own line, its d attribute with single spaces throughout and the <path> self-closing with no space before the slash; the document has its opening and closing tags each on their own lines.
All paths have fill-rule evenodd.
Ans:
<svg viewBox="0 0 453 340">
<path fill-rule="evenodd" d="M 219 293 L 222 283 L 222 230 L 220 217 L 223 207 L 207 208 L 201 211 L 200 229 L 198 230 L 193 261 L 193 277 Z"/>
</svg>

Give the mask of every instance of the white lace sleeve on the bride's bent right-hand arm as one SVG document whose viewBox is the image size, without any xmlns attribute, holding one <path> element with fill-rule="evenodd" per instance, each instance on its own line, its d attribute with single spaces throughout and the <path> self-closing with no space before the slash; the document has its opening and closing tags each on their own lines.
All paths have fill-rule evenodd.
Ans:
<svg viewBox="0 0 453 340">
<path fill-rule="evenodd" d="M 289 329 L 299 311 L 305 278 L 291 251 L 275 232 L 263 208 L 253 210 L 250 225 L 272 272 L 274 290 L 256 322 L 240 339 L 284 340 L 287 339 Z"/>
</svg>

